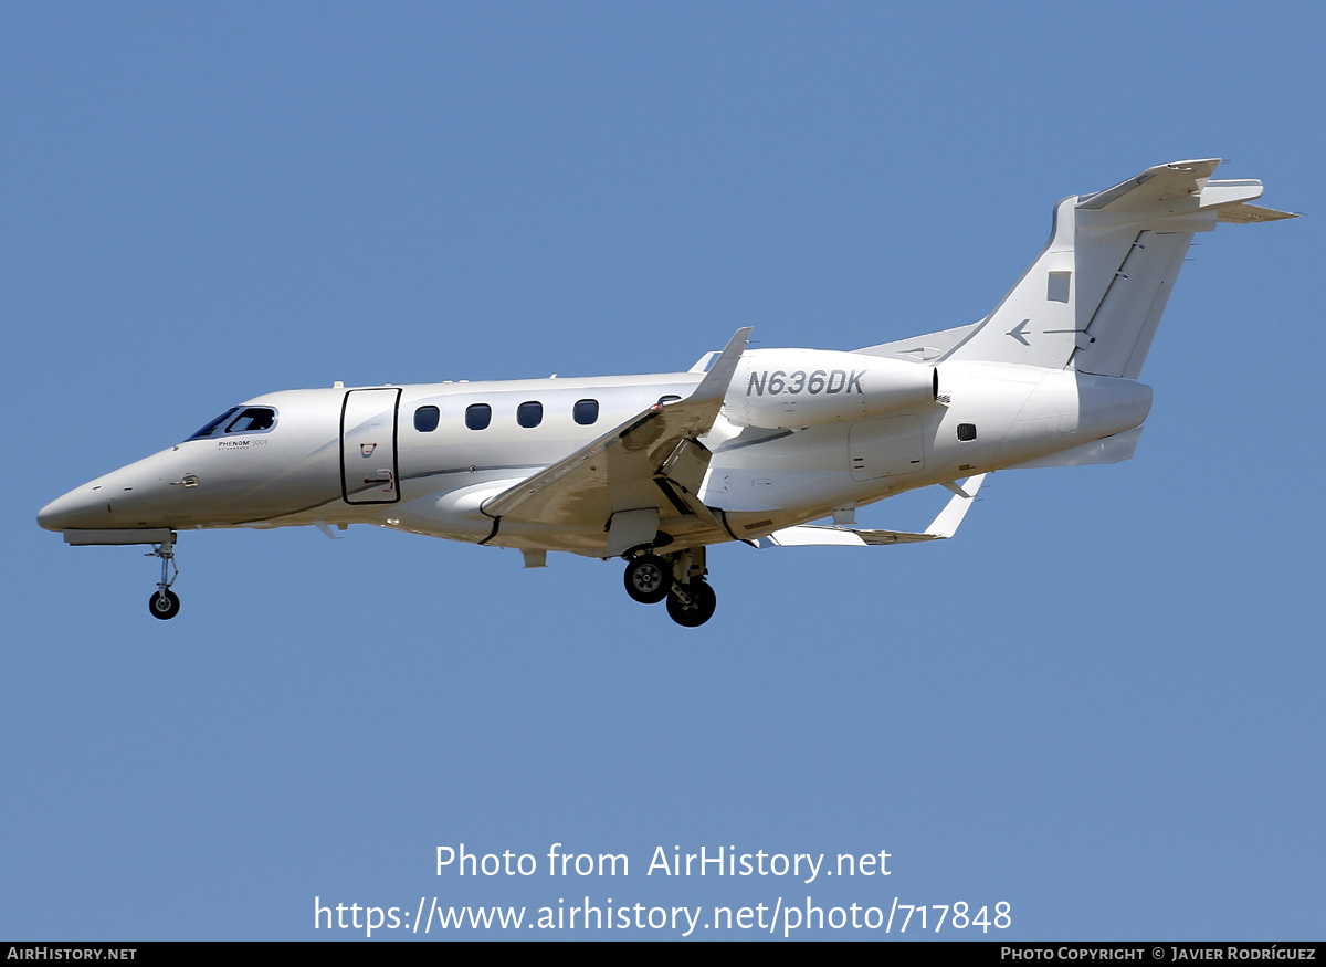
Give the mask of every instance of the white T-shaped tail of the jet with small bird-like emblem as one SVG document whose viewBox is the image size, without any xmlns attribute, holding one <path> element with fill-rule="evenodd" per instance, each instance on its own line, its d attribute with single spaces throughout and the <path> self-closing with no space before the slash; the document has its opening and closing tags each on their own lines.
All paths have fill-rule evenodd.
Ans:
<svg viewBox="0 0 1326 967">
<path fill-rule="evenodd" d="M 1249 204 L 1258 180 L 1212 180 L 1219 164 L 1158 164 L 1059 202 L 1045 251 L 944 358 L 1136 379 L 1193 233 L 1294 218 Z"/>
</svg>

